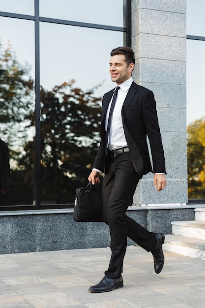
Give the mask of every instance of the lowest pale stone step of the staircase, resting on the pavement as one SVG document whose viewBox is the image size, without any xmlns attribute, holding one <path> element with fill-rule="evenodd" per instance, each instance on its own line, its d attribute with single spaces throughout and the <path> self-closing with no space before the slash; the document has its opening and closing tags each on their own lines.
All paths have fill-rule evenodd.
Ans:
<svg viewBox="0 0 205 308">
<path fill-rule="evenodd" d="M 205 241 L 196 238 L 173 234 L 165 235 L 163 250 L 205 260 Z"/>
</svg>

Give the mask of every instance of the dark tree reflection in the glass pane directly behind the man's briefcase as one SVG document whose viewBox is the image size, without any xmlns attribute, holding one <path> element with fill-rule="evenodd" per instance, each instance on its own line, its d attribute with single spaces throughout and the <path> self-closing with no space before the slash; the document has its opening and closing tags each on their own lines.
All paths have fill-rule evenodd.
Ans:
<svg viewBox="0 0 205 308">
<path fill-rule="evenodd" d="M 42 197 L 57 203 L 74 202 L 88 182 L 100 141 L 101 98 L 74 86 L 41 88 Z"/>
</svg>

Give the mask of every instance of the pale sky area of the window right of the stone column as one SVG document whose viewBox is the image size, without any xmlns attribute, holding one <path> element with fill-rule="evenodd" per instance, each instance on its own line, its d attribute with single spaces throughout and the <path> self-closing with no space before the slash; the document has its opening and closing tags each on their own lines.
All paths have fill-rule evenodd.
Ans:
<svg viewBox="0 0 205 308">
<path fill-rule="evenodd" d="M 205 116 L 205 1 L 187 0 L 187 125 Z M 198 38 L 202 40 L 198 40 Z M 204 41 L 203 41 L 204 37 Z"/>
</svg>

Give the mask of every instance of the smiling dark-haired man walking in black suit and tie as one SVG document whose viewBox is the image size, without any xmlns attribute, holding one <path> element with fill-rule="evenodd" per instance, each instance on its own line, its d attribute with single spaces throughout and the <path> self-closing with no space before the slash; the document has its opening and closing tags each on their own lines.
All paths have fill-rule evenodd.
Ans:
<svg viewBox="0 0 205 308">
<path fill-rule="evenodd" d="M 134 52 L 118 47 L 111 52 L 110 73 L 116 88 L 103 96 L 101 142 L 93 169 L 88 177 L 92 184 L 100 182 L 104 171 L 103 213 L 111 235 L 111 260 L 105 277 L 89 288 L 90 292 L 108 292 L 123 287 L 122 265 L 127 237 L 151 251 L 154 270 L 159 274 L 164 265 L 164 234 L 146 230 L 125 215 L 137 184 L 143 175 L 154 172 L 157 191 L 166 186 L 165 158 L 153 93 L 132 80 Z M 119 87 L 119 88 L 118 88 Z M 114 110 L 112 99 L 117 94 Z M 109 114 L 111 114 L 109 117 Z M 111 118 L 111 121 L 109 120 Z M 107 131 L 107 134 L 106 134 Z M 153 171 L 146 137 L 149 138 Z"/>
</svg>

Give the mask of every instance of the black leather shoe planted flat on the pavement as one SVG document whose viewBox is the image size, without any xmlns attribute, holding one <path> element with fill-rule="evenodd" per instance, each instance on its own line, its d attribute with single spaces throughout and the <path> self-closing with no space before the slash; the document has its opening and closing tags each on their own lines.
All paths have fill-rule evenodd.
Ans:
<svg viewBox="0 0 205 308">
<path fill-rule="evenodd" d="M 113 291 L 117 288 L 123 287 L 123 279 L 120 276 L 119 278 L 108 278 L 107 276 L 103 277 L 102 280 L 93 286 L 91 286 L 88 291 L 92 293 L 102 293 Z"/>
</svg>

